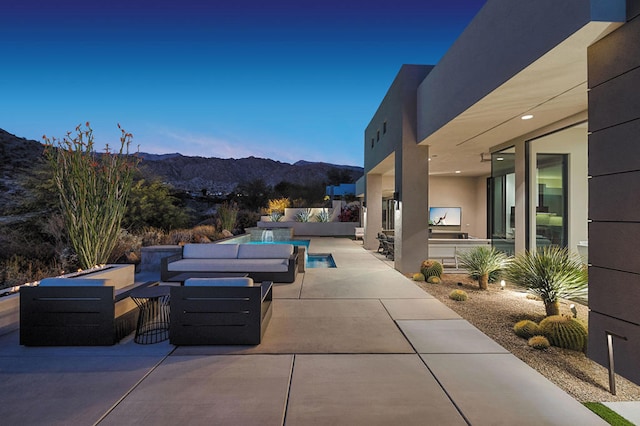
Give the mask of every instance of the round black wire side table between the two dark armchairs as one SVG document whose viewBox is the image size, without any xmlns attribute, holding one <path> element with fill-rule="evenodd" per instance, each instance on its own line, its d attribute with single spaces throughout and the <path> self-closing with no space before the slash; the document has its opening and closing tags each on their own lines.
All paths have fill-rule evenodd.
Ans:
<svg viewBox="0 0 640 426">
<path fill-rule="evenodd" d="M 169 294 L 169 286 L 164 285 L 131 292 L 139 308 L 134 342 L 146 345 L 169 338 Z"/>
</svg>

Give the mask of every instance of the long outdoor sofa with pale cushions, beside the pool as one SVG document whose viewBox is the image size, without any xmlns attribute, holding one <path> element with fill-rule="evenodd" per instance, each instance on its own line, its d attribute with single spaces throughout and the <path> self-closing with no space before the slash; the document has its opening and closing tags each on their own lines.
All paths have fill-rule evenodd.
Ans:
<svg viewBox="0 0 640 426">
<path fill-rule="evenodd" d="M 293 244 L 185 244 L 182 253 L 161 260 L 161 279 L 184 281 L 175 277 L 245 273 L 256 282 L 292 283 L 297 260 L 298 249 Z"/>
</svg>

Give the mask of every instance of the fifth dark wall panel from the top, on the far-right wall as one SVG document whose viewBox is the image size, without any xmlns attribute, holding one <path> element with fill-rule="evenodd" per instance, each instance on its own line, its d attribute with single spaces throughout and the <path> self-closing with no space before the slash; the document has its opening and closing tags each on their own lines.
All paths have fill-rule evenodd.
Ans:
<svg viewBox="0 0 640 426">
<path fill-rule="evenodd" d="M 640 223 L 591 222 L 589 263 L 640 274 L 639 242 Z"/>
</svg>

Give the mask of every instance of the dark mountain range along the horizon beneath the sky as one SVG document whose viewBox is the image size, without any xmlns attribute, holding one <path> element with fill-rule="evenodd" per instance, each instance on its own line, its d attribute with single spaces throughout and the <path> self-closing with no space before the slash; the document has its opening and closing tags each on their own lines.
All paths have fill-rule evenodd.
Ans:
<svg viewBox="0 0 640 426">
<path fill-rule="evenodd" d="M 20 178 L 42 161 L 44 145 L 15 136 L 0 129 L 0 214 L 25 195 Z M 185 191 L 227 194 L 240 183 L 262 179 L 267 185 L 280 182 L 313 184 L 327 180 L 327 173 L 338 169 L 353 181 L 363 175 L 358 166 L 298 161 L 294 164 L 266 158 L 205 158 L 179 153 L 139 153 L 140 170 L 147 177 L 157 177 L 174 188 Z"/>
</svg>

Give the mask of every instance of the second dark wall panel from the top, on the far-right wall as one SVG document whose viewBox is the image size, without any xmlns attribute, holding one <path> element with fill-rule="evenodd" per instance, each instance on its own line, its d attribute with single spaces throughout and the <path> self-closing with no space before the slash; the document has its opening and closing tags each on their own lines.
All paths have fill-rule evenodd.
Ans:
<svg viewBox="0 0 640 426">
<path fill-rule="evenodd" d="M 640 117 L 640 68 L 589 91 L 589 130 L 595 132 Z M 636 89 L 636 90 L 634 90 Z"/>
</svg>

